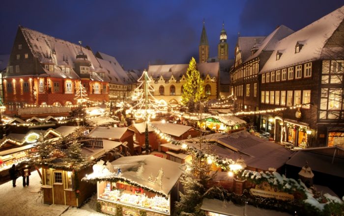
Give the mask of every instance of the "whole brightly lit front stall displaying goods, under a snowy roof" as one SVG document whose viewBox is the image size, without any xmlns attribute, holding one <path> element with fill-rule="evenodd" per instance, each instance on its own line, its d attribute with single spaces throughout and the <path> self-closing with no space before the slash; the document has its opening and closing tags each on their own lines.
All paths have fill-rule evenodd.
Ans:
<svg viewBox="0 0 344 216">
<path fill-rule="evenodd" d="M 100 162 L 83 180 L 97 182 L 99 210 L 111 215 L 172 215 L 178 199 L 180 164 L 141 155 Z"/>
</svg>

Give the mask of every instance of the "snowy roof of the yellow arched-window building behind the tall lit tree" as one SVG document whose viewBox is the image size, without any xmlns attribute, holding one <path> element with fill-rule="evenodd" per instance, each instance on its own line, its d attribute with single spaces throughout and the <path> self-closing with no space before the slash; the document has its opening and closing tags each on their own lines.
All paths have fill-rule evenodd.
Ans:
<svg viewBox="0 0 344 216">
<path fill-rule="evenodd" d="M 148 68 L 148 76 L 152 76 L 155 79 L 162 75 L 164 79 L 170 79 L 173 75 L 174 78 L 180 79 L 183 74 L 186 74 L 188 67 L 189 64 L 150 65 Z M 197 69 L 201 75 L 203 74 L 204 78 L 207 74 L 209 74 L 210 78 L 218 78 L 219 68 L 219 62 L 197 64 Z"/>
</svg>

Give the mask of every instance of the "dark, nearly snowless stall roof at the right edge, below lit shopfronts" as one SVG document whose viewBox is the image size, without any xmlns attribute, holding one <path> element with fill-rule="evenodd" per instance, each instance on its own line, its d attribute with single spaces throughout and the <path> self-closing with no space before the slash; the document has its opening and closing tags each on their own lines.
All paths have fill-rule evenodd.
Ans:
<svg viewBox="0 0 344 216">
<path fill-rule="evenodd" d="M 344 148 L 342 147 L 302 149 L 291 156 L 287 161 L 287 165 L 302 168 L 305 166 L 306 161 L 313 171 L 344 178 Z"/>
</svg>

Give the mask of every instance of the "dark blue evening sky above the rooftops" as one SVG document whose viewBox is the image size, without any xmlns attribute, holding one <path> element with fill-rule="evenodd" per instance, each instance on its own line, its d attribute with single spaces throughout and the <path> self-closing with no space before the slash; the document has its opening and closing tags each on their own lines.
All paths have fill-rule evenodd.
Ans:
<svg viewBox="0 0 344 216">
<path fill-rule="evenodd" d="M 343 0 L 5 0 L 0 3 L 0 54 L 10 53 L 18 24 L 117 58 L 125 69 L 198 60 L 202 21 L 210 46 L 225 22 L 229 58 L 237 34 L 264 36 L 284 24 L 299 30 Z"/>
</svg>

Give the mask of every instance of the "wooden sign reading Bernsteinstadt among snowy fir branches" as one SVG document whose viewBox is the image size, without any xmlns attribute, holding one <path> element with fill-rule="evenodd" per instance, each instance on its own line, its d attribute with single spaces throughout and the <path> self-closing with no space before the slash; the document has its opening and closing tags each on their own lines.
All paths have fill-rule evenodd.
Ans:
<svg viewBox="0 0 344 216">
<path fill-rule="evenodd" d="M 281 200 L 294 199 L 294 196 L 292 194 L 280 192 L 277 188 L 271 187 L 267 182 L 263 182 L 261 185 L 256 185 L 256 188 L 251 188 L 250 192 L 254 196 L 262 196 Z"/>
</svg>

